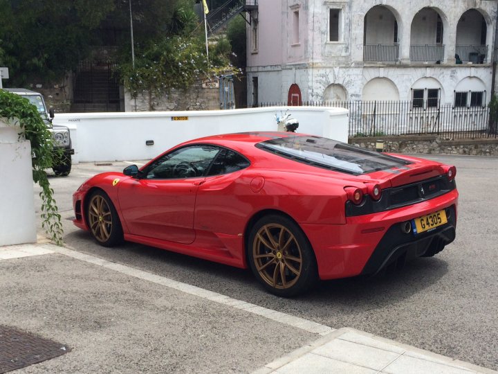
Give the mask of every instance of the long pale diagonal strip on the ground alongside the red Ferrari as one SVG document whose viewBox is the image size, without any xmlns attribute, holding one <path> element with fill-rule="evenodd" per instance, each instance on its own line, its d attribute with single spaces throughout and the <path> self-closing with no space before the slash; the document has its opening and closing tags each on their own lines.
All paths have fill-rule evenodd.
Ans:
<svg viewBox="0 0 498 374">
<path fill-rule="evenodd" d="M 75 251 L 73 249 L 57 247 L 53 244 L 47 244 L 47 245 L 50 247 L 50 249 L 52 249 L 52 251 L 56 253 L 61 253 L 64 254 L 65 256 L 69 256 L 77 260 L 82 260 L 84 262 L 88 262 L 93 265 L 102 266 L 107 269 L 118 271 L 122 274 L 127 274 L 135 278 L 140 278 L 145 281 L 156 283 L 158 285 L 164 285 L 166 287 L 173 288 L 174 290 L 185 292 L 186 294 L 191 294 L 197 297 L 201 297 L 202 299 L 214 301 L 214 303 L 220 303 L 231 308 L 245 310 L 248 313 L 257 314 L 258 316 L 265 317 L 267 319 L 272 319 L 273 321 L 284 323 L 285 325 L 292 326 L 294 328 L 299 328 L 301 330 L 311 332 L 313 334 L 327 335 L 335 330 L 333 328 L 330 328 L 329 326 L 325 326 L 320 323 L 291 316 L 291 314 L 286 314 L 282 312 L 277 312 L 277 310 L 263 308 L 260 307 L 259 305 L 246 303 L 246 301 L 232 299 L 229 296 L 225 296 L 217 292 L 204 290 L 201 287 L 196 287 L 194 285 L 189 285 L 187 283 L 174 281 L 173 279 L 166 278 L 164 276 L 158 276 L 156 274 L 151 274 L 148 273 L 147 271 L 133 269 L 133 267 L 117 264 L 116 262 L 107 261 L 102 258 L 91 256 L 86 253 Z"/>
</svg>

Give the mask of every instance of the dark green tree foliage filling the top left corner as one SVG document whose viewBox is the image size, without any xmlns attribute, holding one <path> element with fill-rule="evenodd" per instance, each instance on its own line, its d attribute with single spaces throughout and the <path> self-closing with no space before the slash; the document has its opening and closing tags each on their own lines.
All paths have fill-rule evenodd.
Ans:
<svg viewBox="0 0 498 374">
<path fill-rule="evenodd" d="M 168 30 L 177 0 L 0 0 L 0 62 L 10 69 L 8 84 L 60 79 L 100 44 L 104 28 L 117 30 L 131 48 L 129 1 L 138 44 Z"/>
</svg>

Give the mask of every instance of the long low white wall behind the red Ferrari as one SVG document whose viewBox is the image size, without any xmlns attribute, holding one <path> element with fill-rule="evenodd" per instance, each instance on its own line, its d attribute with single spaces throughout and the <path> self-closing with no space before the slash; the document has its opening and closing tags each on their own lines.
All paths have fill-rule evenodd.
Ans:
<svg viewBox="0 0 498 374">
<path fill-rule="evenodd" d="M 152 159 L 174 145 L 202 136 L 231 132 L 277 131 L 275 114 L 287 107 L 198 112 L 128 112 L 57 114 L 54 123 L 68 125 L 73 163 Z M 347 142 L 347 110 L 290 107 L 299 132 Z M 185 116 L 186 121 L 172 118 Z M 145 145 L 152 140 L 154 145 Z"/>
</svg>

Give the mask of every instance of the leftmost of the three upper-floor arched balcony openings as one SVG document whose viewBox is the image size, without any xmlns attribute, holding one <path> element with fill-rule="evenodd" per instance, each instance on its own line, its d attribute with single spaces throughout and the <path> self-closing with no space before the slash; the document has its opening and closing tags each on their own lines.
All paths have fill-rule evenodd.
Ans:
<svg viewBox="0 0 498 374">
<path fill-rule="evenodd" d="M 363 21 L 363 61 L 396 62 L 398 33 L 398 21 L 389 8 L 371 8 Z"/>
</svg>

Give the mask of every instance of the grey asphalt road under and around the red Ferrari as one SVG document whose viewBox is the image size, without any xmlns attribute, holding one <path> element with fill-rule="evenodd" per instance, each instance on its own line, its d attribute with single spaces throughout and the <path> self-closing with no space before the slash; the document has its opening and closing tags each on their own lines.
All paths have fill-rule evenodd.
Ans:
<svg viewBox="0 0 498 374">
<path fill-rule="evenodd" d="M 267 294 L 248 270 L 140 244 L 104 248 L 76 229 L 70 221 L 76 188 L 91 175 L 129 163 L 83 163 L 68 177 L 50 177 L 50 183 L 64 220 L 64 240 L 77 251 L 332 328 L 357 328 L 498 370 L 498 159 L 430 158 L 457 166 L 457 240 L 436 257 L 414 260 L 394 274 L 322 282 L 298 299 Z"/>
</svg>

